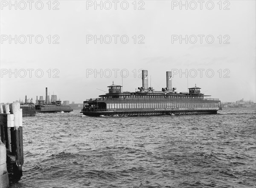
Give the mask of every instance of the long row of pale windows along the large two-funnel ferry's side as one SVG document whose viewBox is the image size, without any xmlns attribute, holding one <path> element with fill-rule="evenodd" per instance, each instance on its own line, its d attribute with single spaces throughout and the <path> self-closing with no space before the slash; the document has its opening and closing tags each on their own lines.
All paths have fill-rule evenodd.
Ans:
<svg viewBox="0 0 256 188">
<path fill-rule="evenodd" d="M 113 108 L 217 108 L 218 103 L 113 103 L 107 104 L 107 109 Z"/>
</svg>

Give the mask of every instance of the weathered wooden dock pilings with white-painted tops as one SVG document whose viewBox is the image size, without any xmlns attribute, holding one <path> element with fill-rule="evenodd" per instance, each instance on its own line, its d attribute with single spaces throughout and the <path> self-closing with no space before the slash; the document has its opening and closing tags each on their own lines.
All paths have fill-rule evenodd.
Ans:
<svg viewBox="0 0 256 188">
<path fill-rule="evenodd" d="M 0 140 L 6 148 L 6 152 L 3 151 L 3 153 L 6 153 L 9 178 L 18 180 L 22 176 L 23 165 L 22 109 L 20 109 L 20 103 L 0 105 Z M 1 147 L 1 153 L 2 149 L 3 147 Z M 1 185 L 3 187 L 9 186 L 5 177 L 6 173 L 1 173 Z M 2 188 L 2 186 L 0 187 Z"/>
</svg>

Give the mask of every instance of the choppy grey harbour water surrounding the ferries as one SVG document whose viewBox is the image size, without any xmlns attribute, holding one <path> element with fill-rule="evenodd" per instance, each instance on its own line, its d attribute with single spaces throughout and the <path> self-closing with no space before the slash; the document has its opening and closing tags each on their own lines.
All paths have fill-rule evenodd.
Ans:
<svg viewBox="0 0 256 188">
<path fill-rule="evenodd" d="M 255 108 L 23 117 L 23 177 L 11 187 L 255 187 L 255 123 Z"/>
</svg>

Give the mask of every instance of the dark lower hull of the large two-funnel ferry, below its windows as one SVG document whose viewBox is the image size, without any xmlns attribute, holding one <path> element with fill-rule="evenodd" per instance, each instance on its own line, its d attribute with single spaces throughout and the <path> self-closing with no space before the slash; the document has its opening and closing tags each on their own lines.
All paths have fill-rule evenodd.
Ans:
<svg viewBox="0 0 256 188">
<path fill-rule="evenodd" d="M 152 115 L 189 115 L 189 114 L 217 114 L 218 110 L 185 110 L 185 111 L 84 111 L 86 116 L 152 116 Z"/>
</svg>

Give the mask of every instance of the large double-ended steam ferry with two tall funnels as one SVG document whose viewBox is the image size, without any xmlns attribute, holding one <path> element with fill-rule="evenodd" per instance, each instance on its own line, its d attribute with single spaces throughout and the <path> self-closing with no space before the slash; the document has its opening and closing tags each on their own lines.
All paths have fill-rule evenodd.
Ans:
<svg viewBox="0 0 256 188">
<path fill-rule="evenodd" d="M 166 72 L 166 88 L 148 87 L 148 71 L 142 71 L 142 87 L 122 92 L 122 85 L 108 86 L 108 93 L 84 101 L 81 113 L 86 116 L 144 116 L 176 114 L 217 114 L 221 101 L 201 93 L 199 87 L 178 93 L 172 88 L 172 72 Z"/>
</svg>

